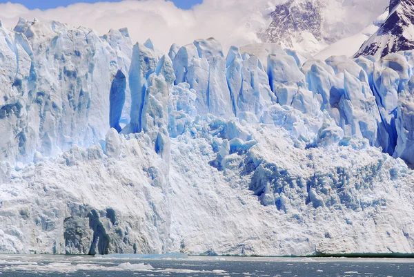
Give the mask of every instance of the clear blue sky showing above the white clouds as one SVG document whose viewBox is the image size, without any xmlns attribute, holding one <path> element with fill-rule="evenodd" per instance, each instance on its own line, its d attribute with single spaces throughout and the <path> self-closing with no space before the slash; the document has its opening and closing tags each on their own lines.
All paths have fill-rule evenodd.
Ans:
<svg viewBox="0 0 414 277">
<path fill-rule="evenodd" d="M 0 3 L 7 3 L 10 0 L 0 0 Z M 120 2 L 121 0 L 107 0 L 109 2 Z M 31 10 L 39 8 L 41 10 L 46 10 L 50 8 L 57 8 L 59 6 L 69 6 L 70 4 L 84 2 L 84 3 L 96 3 L 99 0 L 12 0 L 12 3 L 21 3 Z M 175 3 L 175 6 L 182 9 L 190 9 L 195 4 L 201 3 L 202 0 L 172 0 Z"/>
</svg>

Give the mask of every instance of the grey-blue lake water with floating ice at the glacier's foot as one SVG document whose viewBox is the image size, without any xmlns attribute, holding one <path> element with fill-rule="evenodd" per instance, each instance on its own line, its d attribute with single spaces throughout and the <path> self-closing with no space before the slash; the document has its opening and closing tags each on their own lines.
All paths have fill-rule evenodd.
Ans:
<svg viewBox="0 0 414 277">
<path fill-rule="evenodd" d="M 413 277 L 414 259 L 0 255 L 0 276 Z"/>
</svg>

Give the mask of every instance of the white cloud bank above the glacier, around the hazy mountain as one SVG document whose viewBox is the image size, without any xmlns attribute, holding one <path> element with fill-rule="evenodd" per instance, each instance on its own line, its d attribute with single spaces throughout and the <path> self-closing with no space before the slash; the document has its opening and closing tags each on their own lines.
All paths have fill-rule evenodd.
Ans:
<svg viewBox="0 0 414 277">
<path fill-rule="evenodd" d="M 28 10 L 16 3 L 3 3 L 0 4 L 0 19 L 3 25 L 10 28 L 17 23 L 19 17 L 28 20 L 57 20 L 70 26 L 92 28 L 101 35 L 110 28 L 128 27 L 132 41 L 143 42 L 150 37 L 157 48 L 165 51 L 174 42 L 184 45 L 194 39 L 208 37 L 215 37 L 228 48 L 230 45 L 242 46 L 259 41 L 257 30 L 264 28 L 267 23 L 263 15 L 283 1 L 286 0 L 204 0 L 204 3 L 192 10 L 181 10 L 165 0 L 77 3 L 66 8 L 44 11 Z M 336 0 L 337 8 L 331 10 L 331 14 L 336 12 L 338 16 L 333 17 L 334 20 L 337 18 L 337 21 L 341 20 L 351 26 L 344 35 L 352 35 L 352 32 L 371 23 L 385 8 L 387 1 Z M 355 18 L 352 12 L 355 5 L 364 9 L 359 12 L 364 15 L 362 18 Z"/>
</svg>

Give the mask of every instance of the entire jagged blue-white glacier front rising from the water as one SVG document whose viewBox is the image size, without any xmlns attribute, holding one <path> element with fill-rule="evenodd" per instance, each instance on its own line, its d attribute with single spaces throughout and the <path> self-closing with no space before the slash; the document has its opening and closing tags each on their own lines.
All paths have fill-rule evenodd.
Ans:
<svg viewBox="0 0 414 277">
<path fill-rule="evenodd" d="M 414 55 L 0 24 L 0 252 L 414 252 Z"/>
</svg>

